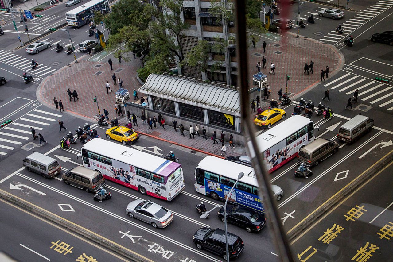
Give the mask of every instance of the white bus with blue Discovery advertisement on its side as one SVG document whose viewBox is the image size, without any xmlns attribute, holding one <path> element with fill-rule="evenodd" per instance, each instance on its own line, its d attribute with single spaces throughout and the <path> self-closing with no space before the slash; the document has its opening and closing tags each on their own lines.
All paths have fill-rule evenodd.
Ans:
<svg viewBox="0 0 393 262">
<path fill-rule="evenodd" d="M 207 156 L 195 169 L 195 191 L 214 200 L 225 201 L 240 172 L 243 172 L 244 176 L 237 182 L 228 201 L 263 212 L 261 199 L 258 196 L 257 178 L 252 167 Z"/>
</svg>

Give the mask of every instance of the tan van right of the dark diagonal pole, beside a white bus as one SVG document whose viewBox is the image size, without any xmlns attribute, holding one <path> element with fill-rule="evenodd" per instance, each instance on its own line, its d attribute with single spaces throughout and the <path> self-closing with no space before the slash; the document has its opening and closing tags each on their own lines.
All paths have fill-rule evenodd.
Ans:
<svg viewBox="0 0 393 262">
<path fill-rule="evenodd" d="M 311 167 L 318 165 L 338 150 L 338 143 L 336 141 L 317 138 L 307 146 L 299 149 L 298 163 L 304 163 L 305 166 Z"/>
</svg>

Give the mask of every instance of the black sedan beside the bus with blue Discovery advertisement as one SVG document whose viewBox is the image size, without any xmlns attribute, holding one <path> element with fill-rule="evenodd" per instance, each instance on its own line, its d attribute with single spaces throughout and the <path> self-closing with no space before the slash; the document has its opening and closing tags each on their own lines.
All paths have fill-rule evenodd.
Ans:
<svg viewBox="0 0 393 262">
<path fill-rule="evenodd" d="M 224 208 L 221 207 L 217 214 L 224 222 Z M 259 231 L 263 229 L 266 224 L 264 214 L 257 213 L 247 207 L 228 204 L 226 206 L 226 221 L 235 224 L 239 227 L 245 228 L 248 232 Z"/>
</svg>

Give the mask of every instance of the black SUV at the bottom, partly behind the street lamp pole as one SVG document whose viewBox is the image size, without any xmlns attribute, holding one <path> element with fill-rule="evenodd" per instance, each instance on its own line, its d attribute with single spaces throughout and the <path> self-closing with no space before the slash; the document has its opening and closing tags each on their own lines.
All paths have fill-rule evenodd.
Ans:
<svg viewBox="0 0 393 262">
<path fill-rule="evenodd" d="M 198 249 L 206 249 L 226 260 L 225 231 L 219 228 L 202 227 L 193 235 L 193 241 Z M 243 240 L 228 232 L 229 258 L 236 258 L 244 249 Z"/>
</svg>

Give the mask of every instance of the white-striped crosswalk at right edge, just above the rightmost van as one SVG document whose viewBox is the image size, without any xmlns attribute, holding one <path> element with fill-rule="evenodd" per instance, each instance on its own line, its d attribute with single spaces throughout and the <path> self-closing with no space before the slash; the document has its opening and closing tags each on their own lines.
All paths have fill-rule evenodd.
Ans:
<svg viewBox="0 0 393 262">
<path fill-rule="evenodd" d="M 386 107 L 389 111 L 393 110 L 393 86 L 390 84 L 346 73 L 324 86 L 336 89 L 338 92 L 345 93 L 345 95 L 353 95 L 355 90 L 358 90 L 358 101 L 378 107 Z"/>
</svg>

